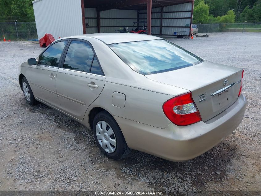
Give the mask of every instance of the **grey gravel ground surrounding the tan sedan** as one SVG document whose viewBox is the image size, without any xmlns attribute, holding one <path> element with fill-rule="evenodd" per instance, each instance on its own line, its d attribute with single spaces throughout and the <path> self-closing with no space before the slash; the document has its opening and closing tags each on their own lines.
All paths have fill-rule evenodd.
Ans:
<svg viewBox="0 0 261 196">
<path fill-rule="evenodd" d="M 170 41 L 206 60 L 244 68 L 248 106 L 234 134 L 183 163 L 135 150 L 121 161 L 107 159 L 90 130 L 43 104 L 26 103 L 18 67 L 43 48 L 36 42 L 1 42 L 0 190 L 261 191 L 261 33 L 209 36 Z"/>
</svg>

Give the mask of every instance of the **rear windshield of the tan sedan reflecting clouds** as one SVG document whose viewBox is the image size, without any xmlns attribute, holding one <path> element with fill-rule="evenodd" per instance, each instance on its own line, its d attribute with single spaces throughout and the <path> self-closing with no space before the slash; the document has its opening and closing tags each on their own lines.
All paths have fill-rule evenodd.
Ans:
<svg viewBox="0 0 261 196">
<path fill-rule="evenodd" d="M 143 75 L 185 68 L 203 61 L 166 40 L 135 41 L 108 46 L 130 68 Z"/>
</svg>

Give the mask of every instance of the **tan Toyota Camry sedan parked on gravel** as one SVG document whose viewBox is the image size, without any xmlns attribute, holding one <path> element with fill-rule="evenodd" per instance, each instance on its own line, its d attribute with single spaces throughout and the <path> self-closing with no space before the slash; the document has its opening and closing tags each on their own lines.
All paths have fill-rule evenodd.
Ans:
<svg viewBox="0 0 261 196">
<path fill-rule="evenodd" d="M 195 158 L 242 121 L 241 68 L 211 63 L 159 37 L 100 33 L 59 39 L 22 63 L 26 101 L 90 128 L 100 150 Z"/>
</svg>

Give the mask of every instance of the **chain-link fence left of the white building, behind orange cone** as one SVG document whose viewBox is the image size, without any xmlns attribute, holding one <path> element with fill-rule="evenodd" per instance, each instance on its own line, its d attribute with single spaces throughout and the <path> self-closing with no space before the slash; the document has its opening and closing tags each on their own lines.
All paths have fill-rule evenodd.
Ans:
<svg viewBox="0 0 261 196">
<path fill-rule="evenodd" d="M 38 39 L 35 22 L 0 22 L 0 41 Z"/>
</svg>

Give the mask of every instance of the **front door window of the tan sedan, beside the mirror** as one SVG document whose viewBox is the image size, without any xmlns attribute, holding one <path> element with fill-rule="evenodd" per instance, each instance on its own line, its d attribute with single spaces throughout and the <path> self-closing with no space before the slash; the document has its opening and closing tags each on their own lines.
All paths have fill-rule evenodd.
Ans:
<svg viewBox="0 0 261 196">
<path fill-rule="evenodd" d="M 59 60 L 66 43 L 67 41 L 59 41 L 48 47 L 39 57 L 38 64 L 58 67 Z"/>
</svg>

